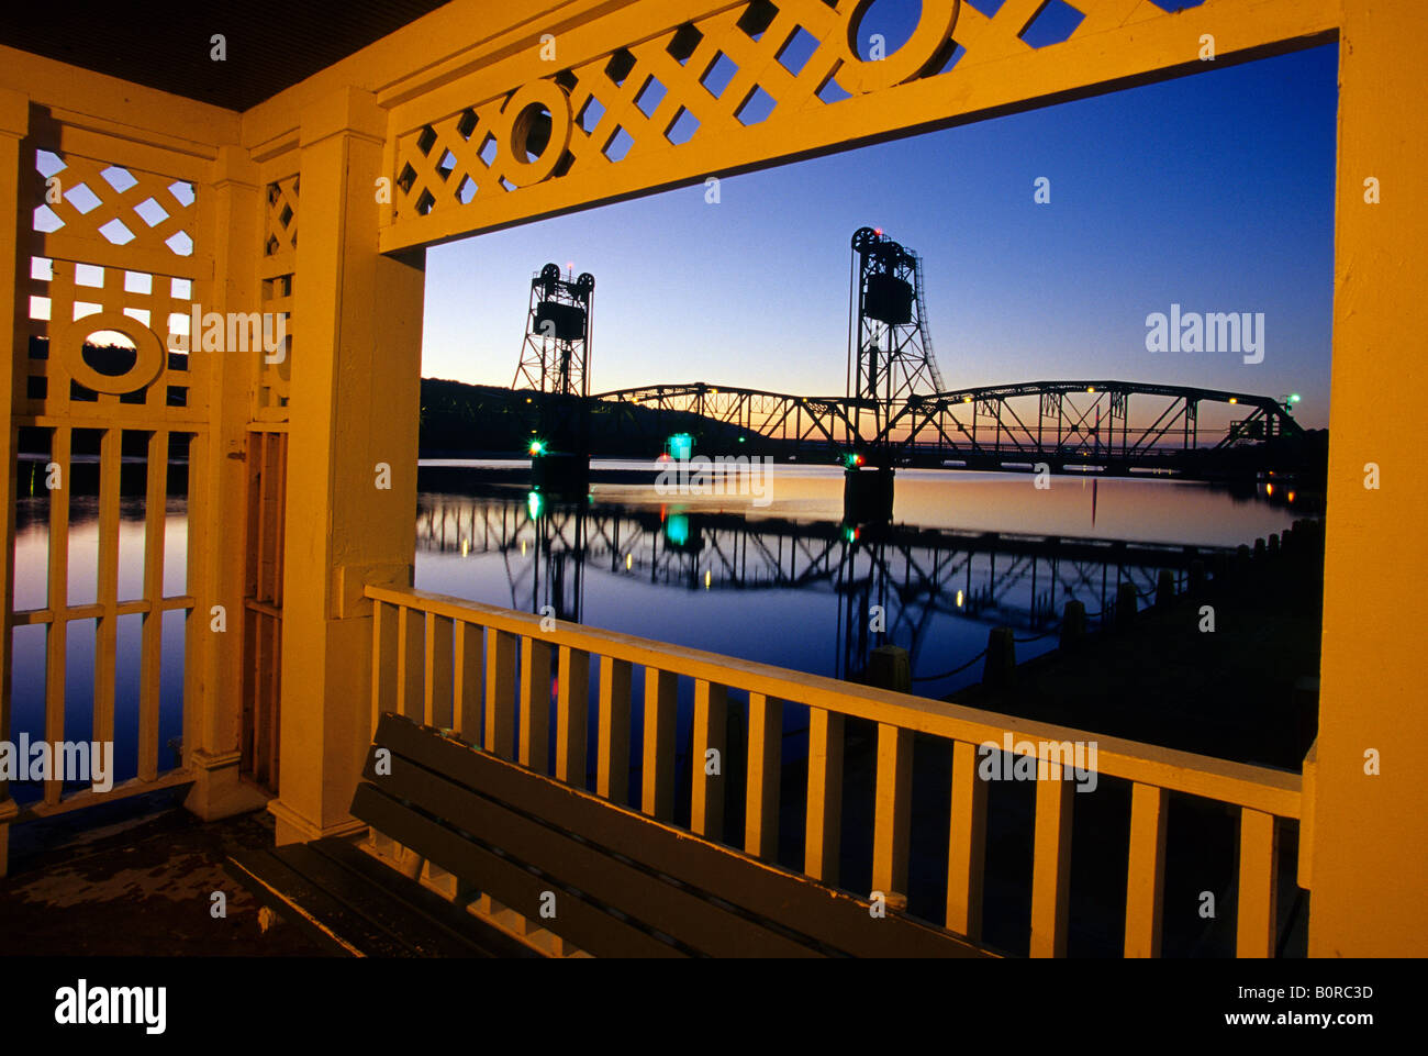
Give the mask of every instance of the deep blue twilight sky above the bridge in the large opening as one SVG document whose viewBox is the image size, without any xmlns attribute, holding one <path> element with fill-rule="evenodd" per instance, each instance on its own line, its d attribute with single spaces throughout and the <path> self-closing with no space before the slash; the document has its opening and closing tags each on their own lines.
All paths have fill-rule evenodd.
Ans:
<svg viewBox="0 0 1428 1056">
<path fill-rule="evenodd" d="M 885 0 L 863 31 L 885 19 L 891 47 L 905 10 Z M 922 254 L 950 387 L 1294 392 L 1299 422 L 1325 426 L 1337 63 L 1325 46 L 1210 69 L 724 179 L 718 204 L 694 186 L 436 247 L 423 373 L 510 384 L 530 277 L 554 260 L 597 280 L 594 392 L 841 394 L 848 240 L 867 224 Z M 1050 204 L 1034 201 L 1042 176 Z M 1147 352 L 1145 317 L 1172 303 L 1262 312 L 1264 362 Z"/>
</svg>

